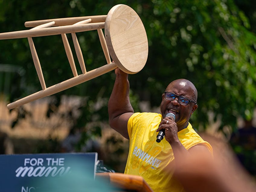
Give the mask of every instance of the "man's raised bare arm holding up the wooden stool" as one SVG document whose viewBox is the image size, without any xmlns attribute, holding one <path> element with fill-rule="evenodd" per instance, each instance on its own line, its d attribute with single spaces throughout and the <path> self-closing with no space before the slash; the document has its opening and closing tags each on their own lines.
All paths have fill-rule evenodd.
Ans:
<svg viewBox="0 0 256 192">
<path fill-rule="evenodd" d="M 128 74 L 115 69 L 116 80 L 108 101 L 108 115 L 110 127 L 129 139 L 127 123 L 134 113 L 129 98 Z"/>
</svg>

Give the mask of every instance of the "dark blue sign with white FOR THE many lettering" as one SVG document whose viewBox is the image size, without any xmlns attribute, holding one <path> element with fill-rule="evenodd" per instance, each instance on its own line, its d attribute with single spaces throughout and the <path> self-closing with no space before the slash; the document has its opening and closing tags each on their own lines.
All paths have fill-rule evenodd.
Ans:
<svg viewBox="0 0 256 192">
<path fill-rule="evenodd" d="M 97 153 L 0 155 L 0 191 L 106 191 L 94 180 L 97 158 Z"/>
</svg>

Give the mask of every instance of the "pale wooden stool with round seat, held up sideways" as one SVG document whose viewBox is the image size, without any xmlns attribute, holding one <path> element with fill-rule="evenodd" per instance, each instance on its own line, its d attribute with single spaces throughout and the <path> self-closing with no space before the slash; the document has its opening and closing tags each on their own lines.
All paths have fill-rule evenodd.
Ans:
<svg viewBox="0 0 256 192">
<path fill-rule="evenodd" d="M 110 72 L 117 67 L 128 74 L 135 74 L 142 70 L 148 57 L 148 40 L 145 28 L 138 14 L 127 5 L 115 5 L 110 9 L 107 15 L 27 21 L 25 22 L 25 27 L 33 28 L 30 30 L 0 33 L 0 40 L 17 38 L 28 39 L 42 90 L 8 104 L 8 109 L 13 109 L 31 101 L 66 90 Z M 102 31 L 103 28 L 105 37 Z M 90 30 L 98 31 L 107 64 L 87 72 L 82 51 L 75 33 Z M 71 33 L 72 35 L 76 56 L 82 70 L 82 74 L 80 75 L 78 75 L 75 68 L 72 51 L 66 37 L 67 33 Z M 58 34 L 62 37 L 74 77 L 56 85 L 46 87 L 32 37 Z M 111 62 L 110 56 L 114 62 Z"/>
</svg>

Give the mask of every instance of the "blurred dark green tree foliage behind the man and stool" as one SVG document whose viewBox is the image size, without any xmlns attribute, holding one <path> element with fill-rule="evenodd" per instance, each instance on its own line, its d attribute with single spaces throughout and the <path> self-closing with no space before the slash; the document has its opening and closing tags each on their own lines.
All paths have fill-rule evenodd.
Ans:
<svg viewBox="0 0 256 192">
<path fill-rule="evenodd" d="M 116 4 L 129 5 L 142 19 L 149 41 L 146 66 L 129 76 L 135 110 L 139 111 L 139 100 L 159 106 L 168 83 L 186 78 L 198 90 L 199 107 L 191 119 L 193 126 L 206 128 L 207 112 L 212 111 L 215 119 L 221 115 L 221 128 L 229 125 L 235 129 L 238 116 L 252 118 L 256 101 L 256 35 L 252 25 L 256 20 L 254 14 L 248 17 L 255 11 L 251 8 L 243 12 L 235 2 L 243 10 L 250 8 L 249 0 L 0 0 L 0 32 L 25 30 L 25 21 L 101 15 Z M 87 71 L 106 64 L 97 36 L 96 31 L 77 33 Z M 72 47 L 70 34 L 68 39 Z M 72 77 L 60 36 L 33 40 L 47 87 Z M 23 77 L 27 87 L 10 92 L 10 101 L 40 90 L 27 39 L 0 40 L 0 63 L 26 70 Z M 78 65 L 77 69 L 81 74 Z M 71 130 L 94 121 L 107 123 L 107 99 L 114 78 L 114 72 L 109 72 L 54 95 L 57 102 L 49 105 L 46 115 L 56 113 L 53 109 L 59 106 L 61 95 L 78 95 L 87 99 L 78 107 L 78 118 L 72 111 L 67 113 L 73 121 Z M 100 106 L 95 108 L 97 103 Z M 81 143 L 92 136 L 101 136 L 98 125 L 82 135 Z"/>
</svg>

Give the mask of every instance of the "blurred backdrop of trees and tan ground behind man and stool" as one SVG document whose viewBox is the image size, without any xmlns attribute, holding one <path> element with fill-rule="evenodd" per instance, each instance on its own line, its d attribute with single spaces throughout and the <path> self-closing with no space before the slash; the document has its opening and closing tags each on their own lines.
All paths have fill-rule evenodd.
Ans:
<svg viewBox="0 0 256 192">
<path fill-rule="evenodd" d="M 198 90 L 195 130 L 224 143 L 256 176 L 256 4 L 252 0 L 0 0 L 0 33 L 27 30 L 25 21 L 106 15 L 126 4 L 140 16 L 149 42 L 146 66 L 129 75 L 136 112 L 160 112 L 166 86 L 189 79 Z M 87 71 L 106 63 L 97 31 L 76 33 Z M 78 74 L 82 74 L 67 34 Z M 60 35 L 33 38 L 46 87 L 72 77 Z M 27 38 L 0 40 L 2 154 L 98 152 L 123 172 L 129 141 L 108 125 L 114 71 L 13 110 L 6 105 L 40 91 Z M 218 142 L 217 142 L 218 143 Z M 223 146 L 220 146 L 223 147 Z"/>
</svg>

